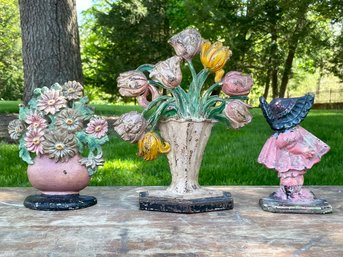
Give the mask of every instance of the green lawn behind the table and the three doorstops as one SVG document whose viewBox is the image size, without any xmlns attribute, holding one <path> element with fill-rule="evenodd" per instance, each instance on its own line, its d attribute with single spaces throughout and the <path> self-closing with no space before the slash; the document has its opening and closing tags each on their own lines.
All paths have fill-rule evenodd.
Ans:
<svg viewBox="0 0 343 257">
<path fill-rule="evenodd" d="M 103 114 L 120 114 L 137 107 L 103 106 Z M 215 125 L 202 162 L 202 185 L 277 185 L 277 174 L 257 163 L 259 152 L 272 134 L 259 109 L 252 110 L 253 122 L 240 130 Z M 331 151 L 305 176 L 308 185 L 343 185 L 343 111 L 312 110 L 302 126 L 322 139 Z M 166 156 L 143 161 L 131 145 L 112 134 L 104 146 L 104 167 L 92 178 L 95 186 L 168 185 L 171 180 Z M 29 186 L 26 165 L 16 145 L 0 143 L 0 186 Z"/>
</svg>

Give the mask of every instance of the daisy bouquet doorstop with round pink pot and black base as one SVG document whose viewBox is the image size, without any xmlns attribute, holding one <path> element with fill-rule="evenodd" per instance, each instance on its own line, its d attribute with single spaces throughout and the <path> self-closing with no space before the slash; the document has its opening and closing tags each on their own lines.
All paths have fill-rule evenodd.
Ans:
<svg viewBox="0 0 343 257">
<path fill-rule="evenodd" d="M 37 88 L 8 125 L 10 137 L 19 141 L 19 156 L 29 164 L 30 183 L 42 192 L 28 196 L 26 207 L 68 210 L 96 204 L 95 197 L 79 191 L 104 163 L 101 145 L 108 141 L 108 125 L 87 103 L 76 81 Z"/>
</svg>

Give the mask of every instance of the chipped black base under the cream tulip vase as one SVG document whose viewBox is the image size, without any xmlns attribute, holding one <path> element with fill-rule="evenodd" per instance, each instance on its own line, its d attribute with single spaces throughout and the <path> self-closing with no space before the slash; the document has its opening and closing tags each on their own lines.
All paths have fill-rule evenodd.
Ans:
<svg viewBox="0 0 343 257">
<path fill-rule="evenodd" d="M 139 209 L 146 211 L 200 213 L 233 209 L 233 198 L 229 192 L 220 196 L 183 198 L 182 196 L 150 196 L 149 192 L 139 193 Z"/>
</svg>

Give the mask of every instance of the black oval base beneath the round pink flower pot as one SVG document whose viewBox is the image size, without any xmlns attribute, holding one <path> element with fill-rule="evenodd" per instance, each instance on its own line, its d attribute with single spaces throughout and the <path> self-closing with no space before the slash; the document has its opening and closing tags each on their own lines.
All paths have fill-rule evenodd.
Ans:
<svg viewBox="0 0 343 257">
<path fill-rule="evenodd" d="M 88 195 L 30 195 L 26 197 L 24 206 L 40 211 L 68 211 L 83 209 L 97 203 L 94 196 Z"/>
</svg>

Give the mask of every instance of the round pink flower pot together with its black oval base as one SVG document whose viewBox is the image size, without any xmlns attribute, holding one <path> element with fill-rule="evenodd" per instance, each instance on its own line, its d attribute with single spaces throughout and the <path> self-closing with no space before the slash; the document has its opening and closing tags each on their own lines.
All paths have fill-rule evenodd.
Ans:
<svg viewBox="0 0 343 257">
<path fill-rule="evenodd" d="M 56 162 L 47 155 L 36 157 L 27 174 L 32 186 L 42 194 L 29 195 L 24 206 L 33 210 L 65 211 L 95 205 L 94 196 L 79 195 L 90 180 L 80 159 L 75 155 L 66 162 Z"/>
</svg>

